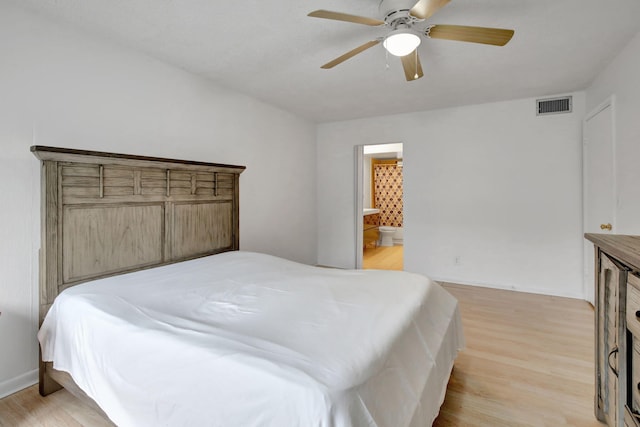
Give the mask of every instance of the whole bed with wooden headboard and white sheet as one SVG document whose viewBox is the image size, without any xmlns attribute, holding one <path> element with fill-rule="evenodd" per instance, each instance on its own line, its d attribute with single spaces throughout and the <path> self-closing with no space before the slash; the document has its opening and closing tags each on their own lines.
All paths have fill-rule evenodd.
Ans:
<svg viewBox="0 0 640 427">
<path fill-rule="evenodd" d="M 121 426 L 432 424 L 464 345 L 438 284 L 240 251 L 243 167 L 32 151 L 41 394 Z"/>
</svg>

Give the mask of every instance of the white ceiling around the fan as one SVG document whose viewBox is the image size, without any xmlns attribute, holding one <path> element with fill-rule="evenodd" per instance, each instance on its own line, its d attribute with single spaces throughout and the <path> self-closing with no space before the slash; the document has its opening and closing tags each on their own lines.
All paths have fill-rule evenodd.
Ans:
<svg viewBox="0 0 640 427">
<path fill-rule="evenodd" d="M 14 2 L 316 122 L 582 90 L 640 31 L 638 0 L 452 0 L 428 22 L 515 36 L 505 47 L 423 40 L 424 77 L 407 82 L 381 44 L 320 69 L 385 30 L 307 13 L 382 18 L 379 0 Z"/>
</svg>

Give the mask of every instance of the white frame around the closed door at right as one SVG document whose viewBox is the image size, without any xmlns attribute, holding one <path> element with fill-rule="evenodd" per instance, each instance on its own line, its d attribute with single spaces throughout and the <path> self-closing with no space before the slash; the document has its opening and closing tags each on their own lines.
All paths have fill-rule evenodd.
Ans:
<svg viewBox="0 0 640 427">
<path fill-rule="evenodd" d="M 589 196 L 587 194 L 587 184 L 589 183 L 589 178 L 588 178 L 588 171 L 587 171 L 587 165 L 588 165 L 588 158 L 589 158 L 589 144 L 587 142 L 587 122 L 589 122 L 589 120 L 593 119 L 594 117 L 596 117 L 598 114 L 600 114 L 602 111 L 604 111 L 605 109 L 610 108 L 610 114 L 611 114 L 611 179 L 612 179 L 612 199 L 613 199 L 613 206 L 612 206 L 612 215 L 611 215 L 611 225 L 613 226 L 613 228 L 615 229 L 616 226 L 616 222 L 617 222 L 617 214 L 618 214 L 618 184 L 617 184 L 617 168 L 616 168 L 616 102 L 615 102 L 615 95 L 611 95 L 608 98 L 606 98 L 603 102 L 601 102 L 600 104 L 598 104 L 598 106 L 596 108 L 594 108 L 593 110 L 591 110 L 584 118 L 584 120 L 582 121 L 582 233 L 583 233 L 583 238 L 584 238 L 584 233 L 587 232 L 586 230 L 586 226 L 587 226 L 587 202 L 589 200 Z M 593 283 L 587 283 L 587 276 L 586 276 L 586 257 L 587 257 L 587 252 L 585 251 L 585 246 L 584 244 L 582 245 L 582 278 L 583 278 L 583 283 L 582 283 L 582 291 L 584 294 L 584 299 L 586 301 L 589 301 L 590 303 L 594 304 L 594 284 Z M 597 266 L 595 266 L 597 267 Z M 594 269 L 594 275 L 597 274 L 595 272 Z M 595 277 L 594 277 L 595 280 Z"/>
</svg>

